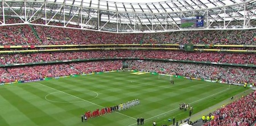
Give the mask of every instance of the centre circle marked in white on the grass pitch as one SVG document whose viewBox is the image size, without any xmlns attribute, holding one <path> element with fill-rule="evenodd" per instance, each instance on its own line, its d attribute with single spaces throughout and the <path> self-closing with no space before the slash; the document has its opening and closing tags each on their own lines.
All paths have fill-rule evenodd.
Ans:
<svg viewBox="0 0 256 126">
<path fill-rule="evenodd" d="M 98 93 L 92 90 L 61 90 L 49 93 L 44 98 L 56 103 L 77 103 L 90 101 L 97 97 Z"/>
</svg>

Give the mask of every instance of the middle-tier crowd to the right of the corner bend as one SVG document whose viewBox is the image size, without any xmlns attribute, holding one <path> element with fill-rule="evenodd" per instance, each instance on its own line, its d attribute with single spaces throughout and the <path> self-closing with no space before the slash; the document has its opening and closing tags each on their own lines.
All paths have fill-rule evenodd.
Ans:
<svg viewBox="0 0 256 126">
<path fill-rule="evenodd" d="M 135 51 L 133 57 L 256 65 L 255 53 L 241 54 L 241 53 L 215 53 L 215 52 L 206 52 L 206 51 L 189 52 L 189 51 L 143 50 L 143 51 Z"/>
</svg>

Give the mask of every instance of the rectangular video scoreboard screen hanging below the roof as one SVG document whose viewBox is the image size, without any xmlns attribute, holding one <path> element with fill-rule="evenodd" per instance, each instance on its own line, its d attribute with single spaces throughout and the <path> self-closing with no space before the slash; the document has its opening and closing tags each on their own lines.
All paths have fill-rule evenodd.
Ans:
<svg viewBox="0 0 256 126">
<path fill-rule="evenodd" d="M 204 16 L 181 18 L 181 28 L 204 27 Z"/>
</svg>

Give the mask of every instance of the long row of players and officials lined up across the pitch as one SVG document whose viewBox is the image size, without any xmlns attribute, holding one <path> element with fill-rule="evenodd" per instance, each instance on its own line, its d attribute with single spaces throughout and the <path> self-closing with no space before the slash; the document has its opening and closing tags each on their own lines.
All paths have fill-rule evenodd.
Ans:
<svg viewBox="0 0 256 126">
<path fill-rule="evenodd" d="M 89 118 L 94 118 L 96 116 L 101 116 L 101 115 L 105 115 L 105 114 L 110 114 L 114 111 L 121 111 L 121 110 L 126 110 L 127 108 L 139 105 L 140 101 L 139 99 L 134 99 L 132 101 L 128 101 L 126 103 L 121 103 L 117 106 L 110 106 L 110 107 L 104 107 L 94 111 L 86 111 L 84 115 L 81 116 L 82 121 L 87 120 Z"/>
</svg>

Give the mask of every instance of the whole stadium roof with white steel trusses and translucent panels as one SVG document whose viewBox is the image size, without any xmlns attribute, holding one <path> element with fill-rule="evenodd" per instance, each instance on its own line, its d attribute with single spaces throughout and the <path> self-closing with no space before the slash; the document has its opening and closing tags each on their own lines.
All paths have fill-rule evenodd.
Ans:
<svg viewBox="0 0 256 126">
<path fill-rule="evenodd" d="M 130 0 L 129 3 L 119 0 L 0 1 L 3 2 L 0 12 L 6 11 L 1 12 L 3 15 L 36 16 L 49 21 L 60 20 L 65 27 L 73 23 L 85 29 L 112 32 L 180 30 L 181 18 L 196 15 L 204 16 L 203 28 L 207 29 L 256 26 L 255 0 Z M 27 12 L 27 17 L 24 12 Z"/>
</svg>

